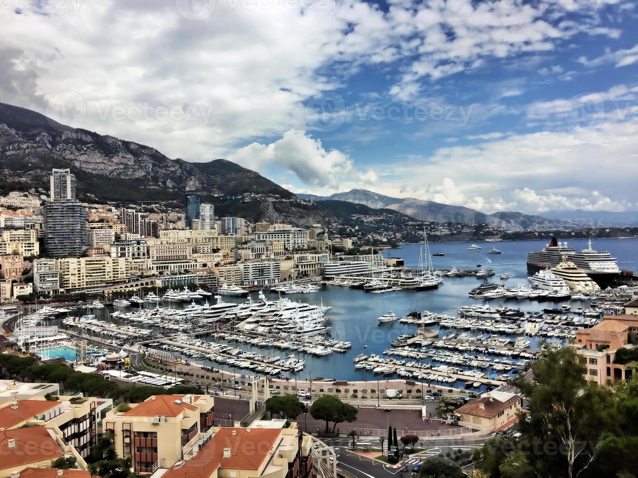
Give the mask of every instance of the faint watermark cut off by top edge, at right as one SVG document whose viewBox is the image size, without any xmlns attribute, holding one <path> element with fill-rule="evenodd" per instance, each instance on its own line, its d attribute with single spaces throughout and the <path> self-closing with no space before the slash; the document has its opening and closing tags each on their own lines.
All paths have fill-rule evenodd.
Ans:
<svg viewBox="0 0 638 478">
<path fill-rule="evenodd" d="M 603 0 L 433 0 L 434 10 L 447 22 L 462 22 L 475 10 L 523 10 L 554 8 L 565 11 L 596 11 Z"/>
</svg>

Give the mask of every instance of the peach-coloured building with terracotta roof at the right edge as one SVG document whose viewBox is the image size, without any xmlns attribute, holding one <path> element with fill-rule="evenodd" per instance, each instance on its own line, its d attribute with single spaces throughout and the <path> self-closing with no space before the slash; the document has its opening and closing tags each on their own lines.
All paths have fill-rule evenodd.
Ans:
<svg viewBox="0 0 638 478">
<path fill-rule="evenodd" d="M 584 377 L 590 382 L 604 385 L 630 379 L 630 362 L 616 357 L 619 349 L 636 352 L 632 337 L 638 332 L 635 315 L 606 315 L 602 322 L 589 329 L 576 331 L 574 347 L 584 360 Z"/>
</svg>

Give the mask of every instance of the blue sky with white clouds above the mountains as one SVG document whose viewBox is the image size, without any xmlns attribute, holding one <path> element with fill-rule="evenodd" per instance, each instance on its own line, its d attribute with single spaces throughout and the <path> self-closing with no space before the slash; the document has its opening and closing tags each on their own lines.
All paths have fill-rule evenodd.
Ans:
<svg viewBox="0 0 638 478">
<path fill-rule="evenodd" d="M 293 192 L 637 210 L 629 0 L 0 0 L 0 102 Z"/>
</svg>

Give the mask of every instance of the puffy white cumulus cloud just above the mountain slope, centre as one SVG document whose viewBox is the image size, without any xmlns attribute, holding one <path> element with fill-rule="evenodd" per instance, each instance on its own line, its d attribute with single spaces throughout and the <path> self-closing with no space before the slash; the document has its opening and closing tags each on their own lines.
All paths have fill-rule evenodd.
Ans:
<svg viewBox="0 0 638 478">
<path fill-rule="evenodd" d="M 228 159 L 251 170 L 264 171 L 278 166 L 294 173 L 305 185 L 338 190 L 344 180 L 374 185 L 374 171 L 357 170 L 352 159 L 338 150 L 325 150 L 320 140 L 305 131 L 291 129 L 274 143 L 251 143 L 240 148 Z"/>
</svg>

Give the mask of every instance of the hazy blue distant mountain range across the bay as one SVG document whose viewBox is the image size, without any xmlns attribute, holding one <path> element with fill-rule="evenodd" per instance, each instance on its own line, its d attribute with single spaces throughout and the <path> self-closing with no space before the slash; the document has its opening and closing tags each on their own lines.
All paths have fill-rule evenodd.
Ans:
<svg viewBox="0 0 638 478">
<path fill-rule="evenodd" d="M 298 196 L 301 195 L 298 194 Z M 352 189 L 351 191 L 338 192 L 324 198 L 312 196 L 311 194 L 304 194 L 302 197 L 314 197 L 317 201 L 348 201 L 376 209 L 388 208 L 420 221 L 488 224 L 508 231 L 526 231 L 534 228 L 545 229 L 557 226 L 556 221 L 538 215 L 523 214 L 521 212 L 485 214 L 464 206 L 453 206 L 414 198 L 392 198 L 373 191 L 367 191 L 367 189 Z M 325 208 L 323 202 L 322 207 Z"/>
</svg>

